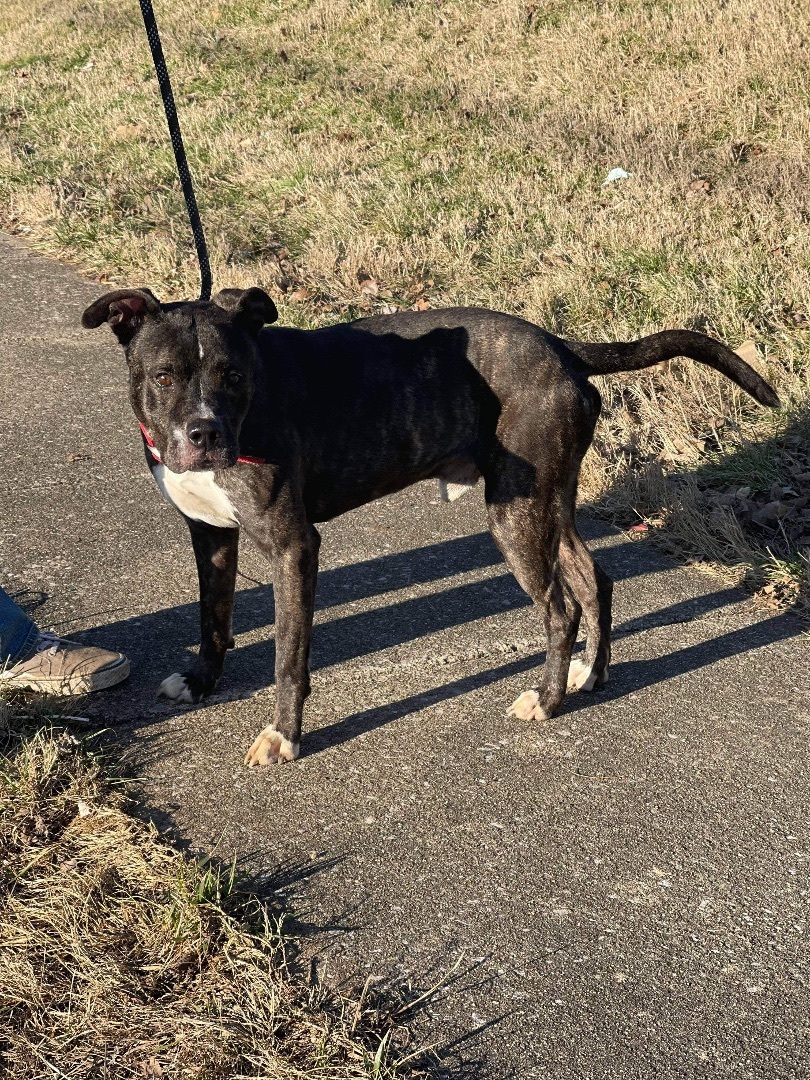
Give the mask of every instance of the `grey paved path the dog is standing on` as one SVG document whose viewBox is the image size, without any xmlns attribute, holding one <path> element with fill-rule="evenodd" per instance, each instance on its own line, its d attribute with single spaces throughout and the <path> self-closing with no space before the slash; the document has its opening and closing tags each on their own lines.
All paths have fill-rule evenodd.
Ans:
<svg viewBox="0 0 810 1080">
<path fill-rule="evenodd" d="M 201 707 L 154 689 L 197 644 L 185 527 L 144 463 L 104 291 L 0 239 L 0 583 L 122 649 L 89 708 L 192 849 L 275 875 L 325 977 L 424 988 L 454 1076 L 805 1077 L 808 661 L 788 616 L 585 523 L 618 581 L 611 679 L 504 716 L 542 637 L 478 494 L 420 485 L 323 527 L 303 756 L 241 767 L 272 706 L 269 569 Z M 159 291 L 158 291 L 159 292 Z"/>
</svg>

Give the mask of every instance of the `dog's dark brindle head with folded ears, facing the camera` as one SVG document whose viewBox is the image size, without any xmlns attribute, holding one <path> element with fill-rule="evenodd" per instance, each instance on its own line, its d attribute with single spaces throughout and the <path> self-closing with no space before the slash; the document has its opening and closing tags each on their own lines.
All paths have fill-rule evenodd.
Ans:
<svg viewBox="0 0 810 1080">
<path fill-rule="evenodd" d="M 181 303 L 125 288 L 91 303 L 82 325 L 110 326 L 126 353 L 135 416 L 166 468 L 186 472 L 235 464 L 257 338 L 276 318 L 260 288 L 226 288 L 210 302 Z"/>
</svg>

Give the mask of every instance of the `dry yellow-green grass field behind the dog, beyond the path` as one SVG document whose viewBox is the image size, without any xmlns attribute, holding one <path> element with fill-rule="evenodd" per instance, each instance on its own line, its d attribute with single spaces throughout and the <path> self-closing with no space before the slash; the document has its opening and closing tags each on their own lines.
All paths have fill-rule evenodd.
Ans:
<svg viewBox="0 0 810 1080">
<path fill-rule="evenodd" d="M 672 527 L 705 516 L 685 477 L 723 495 L 752 465 L 759 509 L 781 484 L 797 527 L 729 505 L 737 565 L 766 580 L 777 557 L 807 584 L 810 484 L 756 449 L 806 432 L 810 400 L 801 0 L 177 0 L 158 18 L 217 286 L 264 285 L 301 326 L 421 301 L 753 342 L 781 415 L 687 364 L 611 379 L 583 495 L 714 561 Z M 10 0 L 0 102 L 1 225 L 195 295 L 136 4 Z M 603 186 L 616 166 L 630 178 Z"/>
</svg>

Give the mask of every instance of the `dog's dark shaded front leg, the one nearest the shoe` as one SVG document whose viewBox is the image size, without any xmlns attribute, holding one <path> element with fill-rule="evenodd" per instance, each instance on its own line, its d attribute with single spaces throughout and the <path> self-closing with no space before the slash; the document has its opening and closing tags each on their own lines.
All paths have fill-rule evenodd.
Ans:
<svg viewBox="0 0 810 1080">
<path fill-rule="evenodd" d="M 185 515 L 184 515 L 185 516 Z M 158 697 L 200 701 L 219 681 L 233 644 L 231 615 L 239 559 L 239 529 L 220 529 L 186 517 L 200 579 L 200 652 L 184 672 L 163 679 Z"/>
</svg>

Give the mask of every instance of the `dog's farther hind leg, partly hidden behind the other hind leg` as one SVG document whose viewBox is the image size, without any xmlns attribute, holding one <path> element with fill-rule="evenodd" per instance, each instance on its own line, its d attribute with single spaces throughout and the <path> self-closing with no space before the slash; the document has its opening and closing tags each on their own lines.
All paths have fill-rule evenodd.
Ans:
<svg viewBox="0 0 810 1080">
<path fill-rule="evenodd" d="M 613 583 L 584 545 L 573 522 L 563 529 L 559 565 L 588 624 L 584 656 L 571 661 L 569 690 L 593 690 L 608 679 Z"/>
</svg>

